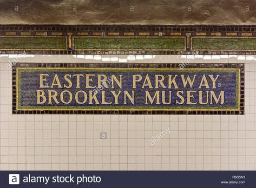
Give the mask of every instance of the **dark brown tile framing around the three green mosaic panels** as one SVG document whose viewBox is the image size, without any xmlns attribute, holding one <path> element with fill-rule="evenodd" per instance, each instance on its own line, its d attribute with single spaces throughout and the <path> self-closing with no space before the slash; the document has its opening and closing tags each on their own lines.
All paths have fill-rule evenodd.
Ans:
<svg viewBox="0 0 256 188">
<path fill-rule="evenodd" d="M 0 36 L 55 36 L 67 38 L 65 50 L 25 50 L 27 54 L 191 54 L 191 41 L 195 37 L 255 38 L 256 25 L 0 25 Z M 184 50 L 75 50 L 74 37 L 184 37 Z M 199 50 L 200 55 L 256 55 L 256 49 Z M 0 54 L 17 54 L 21 50 L 0 49 Z"/>
</svg>

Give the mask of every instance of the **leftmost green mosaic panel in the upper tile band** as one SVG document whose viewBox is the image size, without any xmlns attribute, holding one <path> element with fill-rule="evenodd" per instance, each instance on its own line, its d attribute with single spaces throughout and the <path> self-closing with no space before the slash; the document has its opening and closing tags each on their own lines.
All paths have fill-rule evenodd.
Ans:
<svg viewBox="0 0 256 188">
<path fill-rule="evenodd" d="M 0 37 L 2 50 L 67 50 L 67 37 Z"/>
</svg>

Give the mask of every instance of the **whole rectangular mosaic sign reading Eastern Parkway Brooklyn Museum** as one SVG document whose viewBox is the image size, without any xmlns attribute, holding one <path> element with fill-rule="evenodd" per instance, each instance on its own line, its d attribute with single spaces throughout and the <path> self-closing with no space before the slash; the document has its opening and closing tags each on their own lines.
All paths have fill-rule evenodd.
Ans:
<svg viewBox="0 0 256 188">
<path fill-rule="evenodd" d="M 39 65 L 39 66 L 35 66 Z M 49 111 L 243 113 L 241 76 L 244 65 L 179 68 L 76 67 L 17 64 L 14 67 L 14 113 Z M 97 66 L 96 66 L 97 65 Z M 145 66 L 145 65 L 144 65 Z M 237 113 L 238 112 L 238 113 Z"/>
</svg>

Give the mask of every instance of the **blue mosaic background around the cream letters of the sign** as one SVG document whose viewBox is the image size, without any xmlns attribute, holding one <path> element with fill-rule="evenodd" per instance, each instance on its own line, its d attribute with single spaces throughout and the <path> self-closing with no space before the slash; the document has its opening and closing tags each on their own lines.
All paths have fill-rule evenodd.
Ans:
<svg viewBox="0 0 256 188">
<path fill-rule="evenodd" d="M 87 72 L 87 70 L 83 70 L 82 72 L 69 72 L 68 70 L 67 71 L 64 71 L 64 72 L 57 72 L 58 74 L 58 77 L 60 78 L 60 82 L 62 83 L 62 86 L 65 84 L 67 84 L 67 82 L 65 82 L 64 80 L 64 75 L 65 74 L 70 74 L 73 75 L 74 73 L 82 73 L 82 74 L 86 74 L 86 73 L 89 73 L 89 74 L 94 74 L 94 75 L 97 75 L 97 74 L 104 74 L 106 75 L 108 78 L 111 77 L 111 75 L 115 75 L 118 79 L 119 79 L 119 75 L 121 74 L 122 75 L 122 89 L 121 91 L 124 91 L 124 90 L 127 90 L 130 95 L 132 95 L 132 92 L 131 90 L 135 90 L 134 92 L 134 104 L 130 103 L 130 100 L 127 99 L 127 104 L 124 105 L 123 104 L 123 92 L 121 92 L 120 96 L 119 96 L 119 103 L 120 104 L 114 104 L 114 96 L 113 94 L 110 92 L 111 90 L 113 91 L 116 91 L 116 93 L 120 90 L 119 87 L 117 86 L 117 84 L 114 84 L 115 88 L 114 89 L 111 89 L 111 87 L 109 87 L 108 89 L 107 88 L 104 88 L 104 91 L 106 91 L 106 101 L 107 102 L 111 102 L 113 101 L 113 104 L 101 104 L 101 92 L 98 92 L 97 93 L 97 98 L 99 100 L 99 103 L 100 104 L 95 104 L 95 101 L 93 100 L 93 104 L 88 104 L 88 101 L 89 101 L 89 90 L 94 90 L 94 89 L 86 89 L 84 87 L 85 85 L 85 78 L 81 78 L 80 80 L 80 86 L 81 86 L 81 89 L 76 89 L 76 77 L 73 77 L 72 78 L 72 82 L 73 82 L 73 86 L 72 88 L 70 89 L 58 89 L 57 86 L 55 86 L 55 88 L 52 88 L 51 90 L 56 90 L 58 93 L 60 93 L 61 91 L 63 90 L 69 90 L 70 92 L 73 93 L 73 100 L 70 104 L 63 104 L 60 102 L 60 95 L 57 96 L 57 99 L 58 101 L 60 102 L 60 104 L 54 104 L 54 100 L 53 101 L 53 104 L 36 104 L 36 90 L 44 90 L 44 91 L 47 91 L 49 89 L 41 89 L 39 88 L 40 87 L 40 79 L 39 79 L 39 74 L 40 73 L 48 73 L 49 74 L 49 77 L 48 77 L 48 82 L 49 84 L 52 83 L 52 78 L 54 77 L 55 73 L 56 72 L 47 72 L 47 71 L 29 71 L 29 70 L 25 70 L 25 71 L 21 71 L 21 108 L 22 107 L 26 107 L 26 106 L 34 106 L 35 109 L 38 108 L 39 106 L 44 106 L 44 108 L 46 108 L 47 106 L 56 106 L 57 107 L 60 107 L 60 106 L 79 106 L 81 108 L 81 106 L 83 106 L 84 108 L 88 108 L 88 107 L 98 107 L 100 108 L 101 106 L 103 107 L 109 107 L 109 108 L 120 108 L 120 107 L 129 107 L 129 108 L 143 108 L 144 107 L 156 107 L 156 108 L 163 108 L 163 109 L 166 109 L 166 108 L 172 108 L 172 107 L 181 107 L 181 108 L 197 108 L 197 107 L 209 107 L 209 106 L 221 106 L 221 107 L 235 107 L 236 106 L 236 97 L 237 97 L 237 94 L 236 94 L 236 85 L 237 85 L 237 79 L 236 79 L 236 72 L 235 70 L 232 71 L 232 72 L 225 72 L 225 69 L 223 69 L 224 71 L 223 72 L 208 72 L 208 74 L 211 74 L 213 75 L 213 77 L 215 78 L 216 75 L 220 75 L 217 82 L 216 82 L 216 85 L 220 84 L 221 86 L 218 88 L 218 86 L 216 86 L 216 89 L 211 89 L 212 88 L 212 82 L 210 82 L 211 79 L 209 79 L 209 77 L 207 78 L 207 80 L 209 81 L 208 84 L 209 84 L 209 87 L 210 89 L 205 89 L 205 87 L 202 87 L 202 89 L 197 89 L 200 85 L 200 82 L 201 82 L 201 78 L 202 78 L 202 75 L 204 75 L 205 73 L 207 73 L 207 71 L 205 72 L 201 72 L 201 71 L 198 71 L 196 72 L 195 70 L 193 70 L 192 72 L 175 72 L 175 70 L 172 70 L 171 72 L 163 72 L 161 70 L 159 71 L 155 71 L 155 72 L 137 72 L 137 71 L 133 71 L 133 70 L 130 70 L 129 72 L 122 72 L 120 70 L 120 72 L 104 72 L 102 70 L 102 72 L 93 72 L 93 71 L 89 71 Z M 132 85 L 133 85 L 133 80 L 132 80 L 132 75 L 133 74 L 139 74 L 142 76 L 142 81 L 141 82 L 138 82 L 137 83 L 137 87 L 136 89 L 132 89 Z M 147 86 L 145 89 L 141 89 L 142 85 L 143 85 L 143 78 L 145 78 L 146 75 L 149 75 L 150 77 L 150 80 L 152 80 L 152 85 L 153 85 L 153 89 L 148 89 Z M 159 87 L 159 89 L 154 89 L 155 88 L 155 82 L 154 82 L 154 78 L 155 78 L 155 75 L 163 75 L 165 76 L 166 78 L 168 78 L 168 75 L 169 74 L 172 74 L 172 75 L 178 75 L 178 77 L 176 78 L 176 82 L 177 84 L 179 85 L 179 89 L 174 89 L 173 85 L 172 85 L 172 102 L 171 104 L 156 104 L 156 100 L 154 101 L 153 104 L 146 104 L 145 102 L 145 90 L 148 90 L 150 95 L 153 97 L 154 96 L 154 93 L 155 91 L 159 90 L 160 91 L 160 102 L 161 102 L 161 91 L 165 90 L 166 91 L 166 102 L 169 102 L 169 90 L 168 88 L 166 89 L 163 89 L 161 88 L 161 86 Z M 183 83 L 182 83 L 182 80 L 181 80 L 181 77 L 180 75 L 185 75 L 185 78 L 187 78 L 187 75 L 189 75 L 191 77 L 191 79 L 193 78 L 193 75 L 196 74 L 196 78 L 195 78 L 195 82 L 194 82 L 194 86 L 193 88 L 191 89 L 190 87 L 188 87 L 187 85 L 187 88 L 183 88 Z M 97 86 L 97 77 L 95 76 L 95 78 L 93 79 L 94 82 L 91 82 L 90 85 L 96 85 Z M 163 82 L 166 86 L 168 86 L 168 79 L 165 79 L 165 81 Z M 111 83 L 109 84 L 111 86 Z M 79 90 L 84 90 L 88 93 L 88 100 L 85 104 L 77 104 L 75 102 L 75 92 L 79 91 Z M 199 90 L 203 90 L 203 91 L 206 91 L 206 90 L 214 90 L 216 96 L 218 97 L 219 96 L 219 93 L 221 90 L 224 90 L 225 91 L 225 103 L 223 105 L 220 105 L 220 104 L 206 104 L 206 105 L 201 105 L 201 104 L 193 104 L 193 105 L 187 105 L 187 104 L 183 104 L 183 105 L 180 105 L 180 104 L 176 104 L 176 91 L 183 91 L 184 94 L 182 95 L 184 98 L 185 98 L 185 103 L 186 103 L 186 98 L 187 98 L 187 95 L 186 95 L 186 91 L 188 90 L 195 90 L 195 91 L 199 91 Z M 194 95 L 194 99 L 192 98 L 192 102 L 198 102 L 198 98 L 199 98 L 199 93 L 196 92 L 196 93 L 193 93 Z M 206 92 L 203 92 L 203 102 L 205 102 L 206 100 L 206 97 L 204 98 L 204 96 L 206 95 Z M 48 93 L 45 92 L 45 96 L 47 96 L 48 98 Z M 80 96 L 81 97 L 81 96 Z M 64 99 L 66 101 L 68 101 L 68 95 L 64 95 Z M 81 99 L 82 101 L 83 99 Z M 180 101 L 180 99 L 178 99 Z M 210 100 L 210 98 L 209 98 Z"/>
</svg>

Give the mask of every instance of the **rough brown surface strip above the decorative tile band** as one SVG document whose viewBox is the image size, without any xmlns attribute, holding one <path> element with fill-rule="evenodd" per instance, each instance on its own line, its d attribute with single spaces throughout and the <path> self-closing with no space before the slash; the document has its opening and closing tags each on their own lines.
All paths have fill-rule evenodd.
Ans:
<svg viewBox="0 0 256 188">
<path fill-rule="evenodd" d="M 1 24 L 253 25 L 254 0 L 1 0 Z"/>
</svg>

